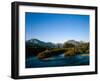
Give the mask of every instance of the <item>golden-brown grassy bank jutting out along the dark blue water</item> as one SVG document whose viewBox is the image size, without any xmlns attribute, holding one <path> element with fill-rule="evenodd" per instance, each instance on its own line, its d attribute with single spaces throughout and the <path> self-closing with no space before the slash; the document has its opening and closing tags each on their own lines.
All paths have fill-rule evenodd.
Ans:
<svg viewBox="0 0 100 81">
<path fill-rule="evenodd" d="M 86 51 L 84 51 L 82 48 L 54 48 L 54 49 L 50 49 L 50 50 L 45 50 L 43 52 L 40 52 L 37 57 L 39 59 L 43 59 L 43 58 L 48 58 L 48 57 L 53 57 L 53 56 L 57 56 L 59 54 L 64 53 L 64 56 L 74 56 L 77 54 L 84 54 L 84 53 L 89 53 Z"/>
</svg>

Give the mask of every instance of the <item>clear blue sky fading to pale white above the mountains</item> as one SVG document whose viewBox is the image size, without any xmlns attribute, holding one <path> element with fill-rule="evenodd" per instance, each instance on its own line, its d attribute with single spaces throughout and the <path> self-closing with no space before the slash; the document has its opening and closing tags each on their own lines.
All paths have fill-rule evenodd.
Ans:
<svg viewBox="0 0 100 81">
<path fill-rule="evenodd" d="M 89 41 L 89 15 L 25 13 L 26 40 L 64 43 Z"/>
</svg>

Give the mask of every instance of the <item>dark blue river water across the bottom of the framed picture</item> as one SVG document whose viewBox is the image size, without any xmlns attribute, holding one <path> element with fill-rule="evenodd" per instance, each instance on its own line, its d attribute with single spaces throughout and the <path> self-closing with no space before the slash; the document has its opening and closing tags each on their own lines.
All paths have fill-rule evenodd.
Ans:
<svg viewBox="0 0 100 81">
<path fill-rule="evenodd" d="M 64 54 L 59 56 L 38 59 L 36 56 L 26 59 L 26 68 L 36 67 L 57 67 L 57 66 L 79 66 L 89 65 L 89 55 L 76 55 L 64 57 Z"/>
</svg>

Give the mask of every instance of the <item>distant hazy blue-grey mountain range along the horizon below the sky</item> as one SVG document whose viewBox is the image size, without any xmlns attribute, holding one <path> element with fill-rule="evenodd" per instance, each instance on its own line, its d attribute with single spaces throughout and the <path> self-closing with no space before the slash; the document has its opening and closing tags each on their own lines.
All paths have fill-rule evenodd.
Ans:
<svg viewBox="0 0 100 81">
<path fill-rule="evenodd" d="M 81 41 L 75 41 L 75 40 L 68 40 L 66 43 L 70 43 L 73 45 L 79 45 L 80 43 L 84 43 Z M 32 45 L 32 46 L 40 46 L 40 47 L 49 47 L 49 48 L 56 48 L 56 47 L 63 47 L 62 43 L 52 43 L 52 42 L 44 42 L 40 41 L 38 39 L 30 39 L 26 41 L 26 45 Z"/>
</svg>

